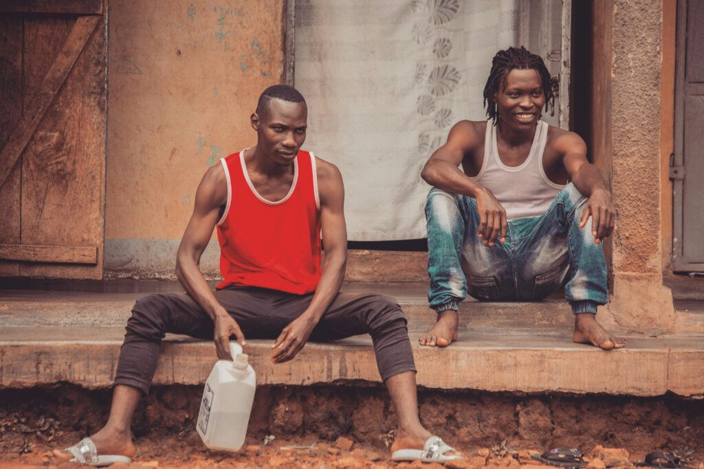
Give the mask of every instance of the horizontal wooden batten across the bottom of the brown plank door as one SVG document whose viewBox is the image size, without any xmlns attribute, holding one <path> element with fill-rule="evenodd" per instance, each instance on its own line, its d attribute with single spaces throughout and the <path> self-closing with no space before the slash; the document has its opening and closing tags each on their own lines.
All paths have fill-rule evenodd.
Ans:
<svg viewBox="0 0 704 469">
<path fill-rule="evenodd" d="M 0 259 L 23 262 L 97 264 L 98 248 L 97 246 L 0 244 Z"/>
</svg>

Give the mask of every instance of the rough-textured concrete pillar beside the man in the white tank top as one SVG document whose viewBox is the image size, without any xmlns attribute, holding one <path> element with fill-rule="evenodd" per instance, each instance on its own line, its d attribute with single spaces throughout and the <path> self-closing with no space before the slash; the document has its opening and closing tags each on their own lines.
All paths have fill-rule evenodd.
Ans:
<svg viewBox="0 0 704 469">
<path fill-rule="evenodd" d="M 612 327 L 646 334 L 674 328 L 672 293 L 662 286 L 661 1 L 614 0 L 611 18 L 604 22 L 612 34 L 605 109 L 612 158 L 607 172 L 618 217 L 612 239 L 612 298 L 601 316 Z"/>
</svg>

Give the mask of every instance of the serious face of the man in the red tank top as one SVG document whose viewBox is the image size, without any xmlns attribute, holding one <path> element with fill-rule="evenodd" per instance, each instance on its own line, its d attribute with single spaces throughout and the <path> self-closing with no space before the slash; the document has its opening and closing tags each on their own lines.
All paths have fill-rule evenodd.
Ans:
<svg viewBox="0 0 704 469">
<path fill-rule="evenodd" d="M 305 102 L 291 103 L 271 98 L 263 113 L 251 116 L 257 131 L 257 146 L 278 166 L 292 165 L 298 149 L 306 141 L 308 108 Z"/>
</svg>

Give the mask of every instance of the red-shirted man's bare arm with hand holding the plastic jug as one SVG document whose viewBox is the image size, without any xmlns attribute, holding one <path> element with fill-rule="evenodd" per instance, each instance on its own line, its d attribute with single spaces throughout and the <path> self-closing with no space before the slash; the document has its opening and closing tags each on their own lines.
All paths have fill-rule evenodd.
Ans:
<svg viewBox="0 0 704 469">
<path fill-rule="evenodd" d="M 237 321 L 215 299 L 201 272 L 200 262 L 213 229 L 220 219 L 220 207 L 227 200 L 225 173 L 220 165 L 208 169 L 196 191 L 196 203 L 176 255 L 176 276 L 188 295 L 213 319 L 218 358 L 230 358 L 230 335 L 246 345 Z"/>
</svg>

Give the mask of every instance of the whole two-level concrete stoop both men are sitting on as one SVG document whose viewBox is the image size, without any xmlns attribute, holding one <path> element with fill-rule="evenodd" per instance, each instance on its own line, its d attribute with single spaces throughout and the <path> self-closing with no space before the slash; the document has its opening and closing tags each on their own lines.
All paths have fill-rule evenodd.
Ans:
<svg viewBox="0 0 704 469">
<path fill-rule="evenodd" d="M 134 286 L 134 285 L 133 285 Z M 425 283 L 346 283 L 343 291 L 395 297 L 406 312 L 419 385 L 491 392 L 704 395 L 704 340 L 686 334 L 629 338 L 604 352 L 572 343 L 572 314 L 563 300 L 534 303 L 465 301 L 460 338 L 451 347 L 420 347 L 434 323 Z M 0 388 L 73 383 L 108 387 L 124 326 L 137 297 L 177 284 L 134 286 L 120 293 L 0 290 Z M 122 291 L 129 288 L 122 288 Z M 146 290 L 146 291 L 144 291 Z M 310 343 L 287 364 L 274 365 L 272 340 L 251 340 L 247 352 L 260 385 L 379 383 L 370 338 Z M 212 342 L 168 336 L 156 385 L 200 385 L 215 362 Z"/>
</svg>

